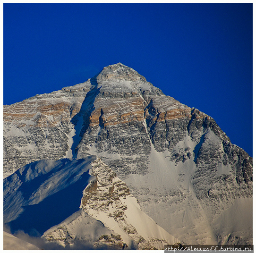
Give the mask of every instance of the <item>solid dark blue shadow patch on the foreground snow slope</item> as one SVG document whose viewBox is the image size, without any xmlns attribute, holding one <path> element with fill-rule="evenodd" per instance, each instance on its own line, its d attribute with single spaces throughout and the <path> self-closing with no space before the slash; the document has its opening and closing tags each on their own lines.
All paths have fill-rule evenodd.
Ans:
<svg viewBox="0 0 256 253">
<path fill-rule="evenodd" d="M 78 211 L 89 177 L 88 170 L 75 184 L 45 198 L 38 204 L 23 206 L 23 213 L 8 224 L 11 232 L 23 230 L 30 236 L 42 236 L 47 229 Z"/>
</svg>

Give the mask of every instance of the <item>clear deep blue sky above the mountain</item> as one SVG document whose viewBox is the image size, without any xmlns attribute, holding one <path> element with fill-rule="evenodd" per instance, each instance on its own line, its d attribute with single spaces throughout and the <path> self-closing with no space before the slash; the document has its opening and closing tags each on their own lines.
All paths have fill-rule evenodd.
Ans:
<svg viewBox="0 0 256 253">
<path fill-rule="evenodd" d="M 4 3 L 4 104 L 118 62 L 252 153 L 252 3 Z"/>
</svg>

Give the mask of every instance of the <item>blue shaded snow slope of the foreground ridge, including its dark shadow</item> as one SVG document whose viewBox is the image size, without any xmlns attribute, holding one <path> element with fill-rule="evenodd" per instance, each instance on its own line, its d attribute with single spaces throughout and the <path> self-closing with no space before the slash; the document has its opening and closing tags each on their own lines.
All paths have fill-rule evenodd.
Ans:
<svg viewBox="0 0 256 253">
<path fill-rule="evenodd" d="M 5 223 L 31 235 L 43 234 L 78 211 L 92 160 L 41 160 L 5 178 Z"/>
</svg>

